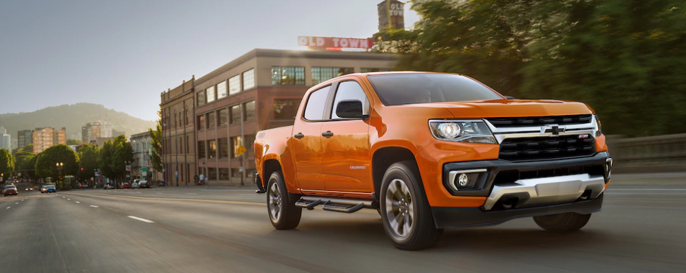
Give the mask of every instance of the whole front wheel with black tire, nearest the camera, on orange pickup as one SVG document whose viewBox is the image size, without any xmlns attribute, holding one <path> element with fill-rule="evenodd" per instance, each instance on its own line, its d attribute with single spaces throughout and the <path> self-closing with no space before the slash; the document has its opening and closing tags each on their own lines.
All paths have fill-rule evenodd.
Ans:
<svg viewBox="0 0 686 273">
<path fill-rule="evenodd" d="M 386 231 L 392 244 L 403 250 L 421 250 L 436 246 L 443 233 L 442 229 L 436 229 L 434 215 L 431 213 L 431 207 L 418 174 L 419 170 L 414 161 L 401 161 L 388 167 L 381 181 L 379 205 L 381 205 L 383 230 Z M 401 183 L 404 183 L 405 187 L 402 187 Z M 389 191 L 390 187 L 392 188 Z M 393 191 L 393 189 L 401 190 Z M 392 192 L 390 196 L 389 192 Z M 400 198 L 399 196 L 407 197 Z M 392 207 L 388 208 L 388 205 Z M 396 214 L 395 209 L 405 210 L 406 213 Z M 405 224 L 402 228 L 392 224 L 392 222 L 398 223 L 399 219 L 410 225 L 409 231 L 406 230 Z"/>
</svg>

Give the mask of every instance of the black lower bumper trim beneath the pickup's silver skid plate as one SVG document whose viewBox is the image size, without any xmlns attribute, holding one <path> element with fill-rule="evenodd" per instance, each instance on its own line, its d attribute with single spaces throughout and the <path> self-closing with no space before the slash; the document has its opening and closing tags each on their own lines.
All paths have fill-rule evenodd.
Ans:
<svg viewBox="0 0 686 273">
<path fill-rule="evenodd" d="M 578 200 L 573 203 L 547 205 L 543 207 L 526 207 L 521 209 L 507 209 L 484 211 L 478 207 L 431 207 L 434 213 L 436 228 L 449 229 L 470 226 L 492 226 L 516 218 L 545 216 L 557 213 L 589 214 L 600 211 L 603 194 L 590 200 Z"/>
</svg>

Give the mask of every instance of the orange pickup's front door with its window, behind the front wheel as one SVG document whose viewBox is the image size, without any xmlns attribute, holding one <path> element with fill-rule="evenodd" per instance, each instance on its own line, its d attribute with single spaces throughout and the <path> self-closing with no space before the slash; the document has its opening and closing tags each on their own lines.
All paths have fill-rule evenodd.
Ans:
<svg viewBox="0 0 686 273">
<path fill-rule="evenodd" d="M 336 108 L 340 101 L 362 101 L 363 114 L 369 114 L 370 100 L 362 86 L 354 80 L 343 79 L 335 85 L 330 119 L 322 124 L 324 151 L 324 180 L 327 195 L 371 197 L 371 159 L 369 156 L 369 120 L 340 118 Z"/>
</svg>

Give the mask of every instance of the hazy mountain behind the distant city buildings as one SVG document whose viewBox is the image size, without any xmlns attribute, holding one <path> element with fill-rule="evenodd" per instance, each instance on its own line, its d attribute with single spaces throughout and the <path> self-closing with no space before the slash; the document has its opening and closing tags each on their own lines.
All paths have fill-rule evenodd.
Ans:
<svg viewBox="0 0 686 273">
<path fill-rule="evenodd" d="M 113 129 L 126 132 L 127 136 L 141 133 L 155 126 L 152 120 L 141 120 L 123 112 L 107 109 L 103 105 L 93 103 L 76 103 L 46 107 L 35 112 L 21 112 L 0 114 L 0 126 L 12 135 L 12 142 L 16 141 L 19 130 L 35 130 L 39 127 L 67 128 L 67 138 L 78 139 L 81 127 L 88 122 L 105 120 L 112 122 Z"/>
</svg>

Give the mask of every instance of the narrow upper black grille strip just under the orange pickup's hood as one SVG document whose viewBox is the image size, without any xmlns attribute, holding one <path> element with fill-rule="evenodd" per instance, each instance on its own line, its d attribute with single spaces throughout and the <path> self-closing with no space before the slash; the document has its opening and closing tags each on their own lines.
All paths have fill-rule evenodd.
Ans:
<svg viewBox="0 0 686 273">
<path fill-rule="evenodd" d="M 579 125 L 591 122 L 591 115 L 534 116 L 525 118 L 486 118 L 495 127 L 540 127 L 543 125 Z"/>
</svg>

